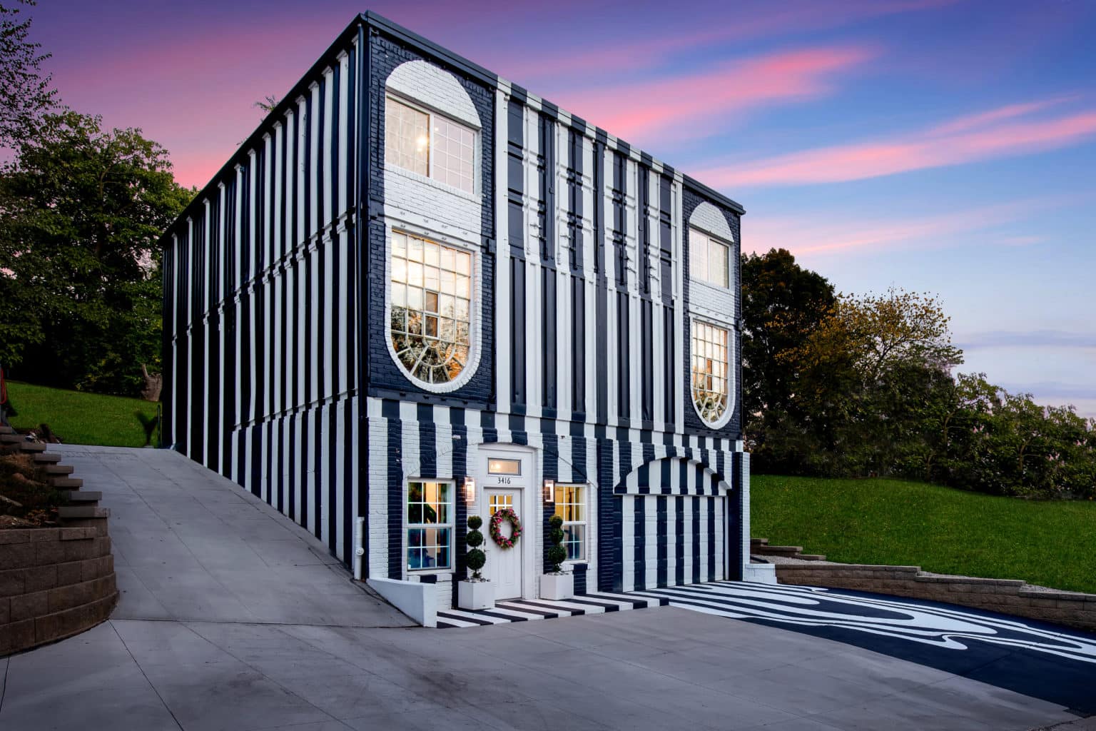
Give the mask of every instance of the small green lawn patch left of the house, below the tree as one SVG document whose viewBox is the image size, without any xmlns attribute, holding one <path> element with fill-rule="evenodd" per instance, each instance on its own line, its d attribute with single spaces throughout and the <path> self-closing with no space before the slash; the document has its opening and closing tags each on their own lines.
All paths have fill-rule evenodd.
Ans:
<svg viewBox="0 0 1096 731">
<path fill-rule="evenodd" d="M 135 412 L 153 416 L 157 409 L 156 403 L 141 399 L 66 391 L 15 381 L 8 381 L 8 397 L 19 411 L 19 415 L 11 420 L 12 426 L 26 430 L 45 422 L 66 444 L 144 446 L 145 430 Z"/>
</svg>

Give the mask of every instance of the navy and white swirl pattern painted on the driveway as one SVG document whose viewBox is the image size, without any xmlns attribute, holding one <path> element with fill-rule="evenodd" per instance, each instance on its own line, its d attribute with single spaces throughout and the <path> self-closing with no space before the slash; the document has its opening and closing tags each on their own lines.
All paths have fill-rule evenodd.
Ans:
<svg viewBox="0 0 1096 731">
<path fill-rule="evenodd" d="M 639 595 L 855 644 L 1096 713 L 1096 636 L 950 604 L 815 586 L 715 582 Z"/>
</svg>

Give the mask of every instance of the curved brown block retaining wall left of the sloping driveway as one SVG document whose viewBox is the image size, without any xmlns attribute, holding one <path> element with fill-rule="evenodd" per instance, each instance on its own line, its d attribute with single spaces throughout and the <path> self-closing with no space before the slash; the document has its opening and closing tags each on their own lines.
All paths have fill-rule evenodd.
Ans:
<svg viewBox="0 0 1096 731">
<path fill-rule="evenodd" d="M 0 530 L 0 656 L 105 620 L 118 599 L 106 518 Z"/>
</svg>

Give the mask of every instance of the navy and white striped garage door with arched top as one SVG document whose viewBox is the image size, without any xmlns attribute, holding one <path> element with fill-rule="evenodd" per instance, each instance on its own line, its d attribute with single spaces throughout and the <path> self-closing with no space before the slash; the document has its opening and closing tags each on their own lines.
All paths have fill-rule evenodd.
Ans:
<svg viewBox="0 0 1096 731">
<path fill-rule="evenodd" d="M 649 462 L 617 486 L 620 590 L 728 578 L 731 487 L 682 458 Z"/>
</svg>

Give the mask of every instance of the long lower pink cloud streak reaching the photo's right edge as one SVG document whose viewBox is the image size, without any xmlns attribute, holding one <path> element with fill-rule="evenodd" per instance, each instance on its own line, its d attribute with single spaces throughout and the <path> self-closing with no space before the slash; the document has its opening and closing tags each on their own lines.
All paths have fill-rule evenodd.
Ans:
<svg viewBox="0 0 1096 731">
<path fill-rule="evenodd" d="M 1096 110 L 1016 121 L 1054 102 L 1035 102 L 958 117 L 874 142 L 836 145 L 696 171 L 709 185 L 836 183 L 1040 152 L 1096 135 Z"/>
</svg>

